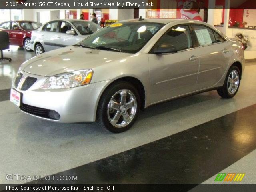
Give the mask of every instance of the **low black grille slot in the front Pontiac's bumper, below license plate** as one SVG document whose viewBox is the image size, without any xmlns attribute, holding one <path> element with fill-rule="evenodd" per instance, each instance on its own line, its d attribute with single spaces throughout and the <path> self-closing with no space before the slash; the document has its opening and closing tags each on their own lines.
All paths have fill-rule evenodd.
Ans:
<svg viewBox="0 0 256 192">
<path fill-rule="evenodd" d="M 60 119 L 60 114 L 54 110 L 49 110 L 49 109 L 44 109 L 44 108 L 39 108 L 27 104 L 22 104 L 20 106 L 20 110 L 27 112 L 29 114 L 47 118 L 47 119 L 52 119 L 52 120 L 59 120 Z"/>
</svg>

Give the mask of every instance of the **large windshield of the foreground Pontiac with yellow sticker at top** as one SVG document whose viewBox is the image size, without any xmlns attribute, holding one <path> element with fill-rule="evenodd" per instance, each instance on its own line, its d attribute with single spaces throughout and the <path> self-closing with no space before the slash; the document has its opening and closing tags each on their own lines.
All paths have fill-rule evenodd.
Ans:
<svg viewBox="0 0 256 192">
<path fill-rule="evenodd" d="M 103 28 L 80 43 L 90 48 L 136 53 L 163 26 L 150 22 L 119 22 Z"/>
</svg>

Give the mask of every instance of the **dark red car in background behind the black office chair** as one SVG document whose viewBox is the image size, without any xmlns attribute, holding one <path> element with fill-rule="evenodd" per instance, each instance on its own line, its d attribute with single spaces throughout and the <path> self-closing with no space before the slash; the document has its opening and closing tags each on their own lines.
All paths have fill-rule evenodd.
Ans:
<svg viewBox="0 0 256 192">
<path fill-rule="evenodd" d="M 9 34 L 10 45 L 18 45 L 30 51 L 29 41 L 32 30 L 36 30 L 40 24 L 34 21 L 6 21 L 0 24 L 0 31 Z"/>
</svg>

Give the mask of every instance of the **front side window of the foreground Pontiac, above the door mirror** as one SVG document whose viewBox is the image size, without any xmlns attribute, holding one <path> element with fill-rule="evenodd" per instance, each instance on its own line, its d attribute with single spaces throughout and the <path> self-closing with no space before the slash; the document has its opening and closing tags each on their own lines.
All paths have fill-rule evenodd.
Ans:
<svg viewBox="0 0 256 192">
<path fill-rule="evenodd" d="M 192 48 L 192 39 L 188 26 L 176 26 L 164 34 L 156 44 L 156 48 L 177 52 Z"/>
</svg>

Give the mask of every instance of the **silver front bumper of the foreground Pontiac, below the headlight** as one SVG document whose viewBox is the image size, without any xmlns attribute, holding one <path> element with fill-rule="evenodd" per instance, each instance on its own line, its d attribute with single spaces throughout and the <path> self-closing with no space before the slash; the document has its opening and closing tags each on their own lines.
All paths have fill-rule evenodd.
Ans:
<svg viewBox="0 0 256 192">
<path fill-rule="evenodd" d="M 20 108 L 22 112 L 38 118 L 62 123 L 93 122 L 96 120 L 98 101 L 109 81 L 96 82 L 75 88 L 44 90 L 40 89 L 40 86 L 48 77 L 36 76 L 24 71 L 21 73 L 23 77 L 37 78 L 37 81 L 26 91 L 20 90 L 20 85 L 16 87 L 14 83 L 12 84 L 12 88 L 22 93 L 22 104 L 54 110 L 58 112 L 60 118 L 59 120 L 45 118 L 30 114 Z"/>
</svg>

